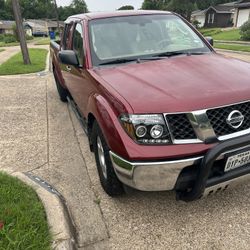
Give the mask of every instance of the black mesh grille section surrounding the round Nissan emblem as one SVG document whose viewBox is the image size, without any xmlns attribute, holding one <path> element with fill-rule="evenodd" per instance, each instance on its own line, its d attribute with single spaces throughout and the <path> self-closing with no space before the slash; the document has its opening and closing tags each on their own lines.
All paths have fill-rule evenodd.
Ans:
<svg viewBox="0 0 250 250">
<path fill-rule="evenodd" d="M 229 114 L 238 110 L 244 116 L 243 124 L 235 129 L 227 124 L 226 120 Z M 207 111 L 208 119 L 213 126 L 217 136 L 229 135 L 250 128 L 250 102 L 235 104 L 227 107 L 211 109 Z"/>
</svg>

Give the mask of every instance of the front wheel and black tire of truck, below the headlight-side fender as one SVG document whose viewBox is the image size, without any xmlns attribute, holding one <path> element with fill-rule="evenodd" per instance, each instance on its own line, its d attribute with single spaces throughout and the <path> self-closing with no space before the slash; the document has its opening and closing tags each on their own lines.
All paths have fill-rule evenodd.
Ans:
<svg viewBox="0 0 250 250">
<path fill-rule="evenodd" d="M 97 170 L 104 191 L 111 197 L 123 194 L 123 184 L 115 174 L 108 145 L 96 121 L 92 129 L 92 142 Z"/>
</svg>

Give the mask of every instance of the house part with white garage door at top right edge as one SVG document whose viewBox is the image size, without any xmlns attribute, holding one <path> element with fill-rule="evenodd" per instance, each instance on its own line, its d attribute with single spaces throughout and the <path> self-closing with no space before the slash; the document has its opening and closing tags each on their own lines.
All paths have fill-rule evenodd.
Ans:
<svg viewBox="0 0 250 250">
<path fill-rule="evenodd" d="M 250 19 L 250 0 L 238 1 L 235 4 L 235 27 L 240 27 Z"/>
</svg>

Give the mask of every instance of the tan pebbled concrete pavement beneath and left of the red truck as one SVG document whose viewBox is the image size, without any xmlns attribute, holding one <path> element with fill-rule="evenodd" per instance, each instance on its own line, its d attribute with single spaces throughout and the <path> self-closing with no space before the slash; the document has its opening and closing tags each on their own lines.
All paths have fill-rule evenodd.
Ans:
<svg viewBox="0 0 250 250">
<path fill-rule="evenodd" d="M 0 89 L 0 169 L 29 171 L 64 196 L 79 249 L 249 249 L 249 183 L 192 203 L 173 192 L 112 199 L 51 74 L 0 77 Z"/>
</svg>

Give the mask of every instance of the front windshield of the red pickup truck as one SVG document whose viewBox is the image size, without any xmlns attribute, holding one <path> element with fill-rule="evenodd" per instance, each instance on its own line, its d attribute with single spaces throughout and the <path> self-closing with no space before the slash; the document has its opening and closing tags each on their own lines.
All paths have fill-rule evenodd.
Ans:
<svg viewBox="0 0 250 250">
<path fill-rule="evenodd" d="M 181 18 L 167 14 L 92 20 L 90 45 L 94 66 L 171 52 L 211 52 Z"/>
</svg>

